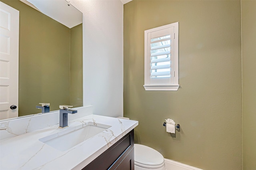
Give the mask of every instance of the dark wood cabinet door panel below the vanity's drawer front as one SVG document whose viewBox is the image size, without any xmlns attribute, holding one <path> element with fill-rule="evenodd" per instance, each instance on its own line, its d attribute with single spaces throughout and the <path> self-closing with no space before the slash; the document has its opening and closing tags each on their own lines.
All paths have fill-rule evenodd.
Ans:
<svg viewBox="0 0 256 170">
<path fill-rule="evenodd" d="M 134 148 L 132 148 L 115 170 L 134 170 Z"/>
</svg>

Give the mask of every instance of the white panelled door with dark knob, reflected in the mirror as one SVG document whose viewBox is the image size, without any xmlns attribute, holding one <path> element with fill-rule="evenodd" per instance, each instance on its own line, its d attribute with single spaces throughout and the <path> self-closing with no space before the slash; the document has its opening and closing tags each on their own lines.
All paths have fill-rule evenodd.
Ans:
<svg viewBox="0 0 256 170">
<path fill-rule="evenodd" d="M 0 120 L 18 117 L 18 57 L 19 11 L 0 2 Z"/>
</svg>

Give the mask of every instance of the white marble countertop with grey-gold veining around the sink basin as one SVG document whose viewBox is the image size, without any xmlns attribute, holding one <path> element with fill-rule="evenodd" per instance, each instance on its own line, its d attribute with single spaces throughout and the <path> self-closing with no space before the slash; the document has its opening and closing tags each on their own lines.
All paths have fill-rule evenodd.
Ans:
<svg viewBox="0 0 256 170">
<path fill-rule="evenodd" d="M 110 128 L 65 151 L 56 150 L 39 139 L 63 130 L 80 128 L 88 123 L 104 124 Z M 69 121 L 67 128 L 58 125 L 46 127 L 0 141 L 1 170 L 80 170 L 102 154 L 126 133 L 138 125 L 138 121 L 88 115 Z M 68 139 L 63 142 L 69 142 Z"/>
</svg>

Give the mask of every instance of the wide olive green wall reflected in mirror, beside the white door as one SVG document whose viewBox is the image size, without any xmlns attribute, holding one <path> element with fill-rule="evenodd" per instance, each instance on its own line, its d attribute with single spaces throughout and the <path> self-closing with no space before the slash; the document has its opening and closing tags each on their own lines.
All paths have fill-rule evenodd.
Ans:
<svg viewBox="0 0 256 170">
<path fill-rule="evenodd" d="M 1 1 L 20 11 L 19 116 L 41 113 L 36 105 L 42 102 L 50 103 L 50 111 L 69 105 L 70 28 L 19 0 Z"/>
</svg>

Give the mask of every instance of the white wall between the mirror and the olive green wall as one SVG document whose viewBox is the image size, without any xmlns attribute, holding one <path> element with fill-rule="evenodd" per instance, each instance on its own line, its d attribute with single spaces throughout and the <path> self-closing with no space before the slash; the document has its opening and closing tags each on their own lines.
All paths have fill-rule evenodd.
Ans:
<svg viewBox="0 0 256 170">
<path fill-rule="evenodd" d="M 84 14 L 84 106 L 123 115 L 123 4 L 120 0 L 70 0 Z"/>
</svg>

